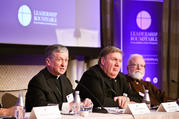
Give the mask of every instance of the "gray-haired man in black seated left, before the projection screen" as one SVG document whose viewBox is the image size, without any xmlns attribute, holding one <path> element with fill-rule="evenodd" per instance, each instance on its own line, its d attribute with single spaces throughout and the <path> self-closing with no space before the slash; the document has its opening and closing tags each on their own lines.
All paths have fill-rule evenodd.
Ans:
<svg viewBox="0 0 179 119">
<path fill-rule="evenodd" d="M 58 104 L 62 108 L 67 96 L 73 93 L 70 80 L 64 75 L 67 70 L 69 52 L 65 46 L 51 45 L 45 50 L 46 67 L 35 75 L 28 84 L 25 107 L 30 112 L 33 107 Z M 85 99 L 85 104 L 90 103 Z M 72 106 L 72 103 L 70 103 Z"/>
</svg>

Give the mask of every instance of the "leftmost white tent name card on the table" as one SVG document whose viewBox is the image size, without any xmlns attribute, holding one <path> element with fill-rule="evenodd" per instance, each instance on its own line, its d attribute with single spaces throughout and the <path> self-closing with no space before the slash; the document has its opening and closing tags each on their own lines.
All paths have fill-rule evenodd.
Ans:
<svg viewBox="0 0 179 119">
<path fill-rule="evenodd" d="M 60 117 L 61 114 L 58 105 L 56 105 L 34 107 L 30 113 L 29 119 L 57 119 Z"/>
</svg>

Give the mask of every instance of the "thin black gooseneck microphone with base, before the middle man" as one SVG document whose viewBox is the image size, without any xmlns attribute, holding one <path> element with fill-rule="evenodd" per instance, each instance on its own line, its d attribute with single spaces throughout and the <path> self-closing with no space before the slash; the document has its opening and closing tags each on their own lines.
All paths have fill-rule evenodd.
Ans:
<svg viewBox="0 0 179 119">
<path fill-rule="evenodd" d="M 101 104 L 101 102 L 99 101 L 99 99 L 94 96 L 94 94 L 85 86 L 83 85 L 82 83 L 80 83 L 78 80 L 75 80 L 75 82 L 77 84 L 79 84 L 81 87 L 83 87 L 96 101 L 97 103 L 100 105 L 101 108 L 99 107 L 96 107 L 96 108 L 93 108 L 93 112 L 97 112 L 97 113 L 108 113 L 108 111 L 103 107 L 103 105 Z"/>
</svg>

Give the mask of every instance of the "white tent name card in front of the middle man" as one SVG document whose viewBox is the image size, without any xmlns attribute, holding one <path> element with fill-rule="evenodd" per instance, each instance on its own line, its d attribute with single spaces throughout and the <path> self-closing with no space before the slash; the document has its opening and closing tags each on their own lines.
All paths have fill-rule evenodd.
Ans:
<svg viewBox="0 0 179 119">
<path fill-rule="evenodd" d="M 126 110 L 124 111 L 126 114 L 146 114 L 150 113 L 148 106 L 145 103 L 137 103 L 137 104 L 128 104 Z"/>
</svg>

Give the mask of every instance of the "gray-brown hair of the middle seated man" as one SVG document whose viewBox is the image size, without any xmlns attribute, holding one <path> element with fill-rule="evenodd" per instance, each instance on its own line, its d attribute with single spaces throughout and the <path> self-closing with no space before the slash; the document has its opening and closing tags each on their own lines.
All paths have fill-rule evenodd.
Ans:
<svg viewBox="0 0 179 119">
<path fill-rule="evenodd" d="M 114 52 L 118 52 L 118 53 L 120 53 L 122 55 L 122 51 L 119 48 L 115 47 L 115 46 L 107 46 L 107 47 L 103 48 L 101 50 L 101 52 L 99 53 L 98 64 L 101 64 L 101 58 L 102 57 L 105 57 L 109 53 L 114 53 Z"/>
</svg>

